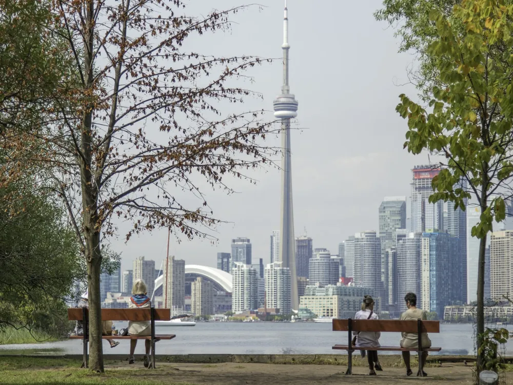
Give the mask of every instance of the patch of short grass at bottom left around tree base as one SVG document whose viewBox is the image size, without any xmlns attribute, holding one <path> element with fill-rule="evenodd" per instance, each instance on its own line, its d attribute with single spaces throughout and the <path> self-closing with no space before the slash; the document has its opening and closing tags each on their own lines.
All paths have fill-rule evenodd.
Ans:
<svg viewBox="0 0 513 385">
<path fill-rule="evenodd" d="M 0 356 L 0 384 L 12 385 L 187 385 L 171 383 L 165 373 L 148 369 L 107 369 L 103 374 L 80 369 L 80 361 L 65 358 L 2 357 Z M 154 379 L 148 376 L 156 375 Z M 192 384 L 188 384 L 192 385 Z"/>
</svg>

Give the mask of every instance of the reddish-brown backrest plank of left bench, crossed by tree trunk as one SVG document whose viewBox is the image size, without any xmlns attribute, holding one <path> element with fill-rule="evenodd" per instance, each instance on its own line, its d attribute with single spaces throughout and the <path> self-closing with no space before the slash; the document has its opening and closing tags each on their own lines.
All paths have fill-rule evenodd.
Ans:
<svg viewBox="0 0 513 385">
<path fill-rule="evenodd" d="M 169 321 L 171 309 L 154 309 L 155 321 Z M 89 310 L 86 314 L 89 316 Z M 82 307 L 68 309 L 70 321 L 83 321 Z M 102 320 L 104 321 L 151 321 L 151 309 L 102 309 Z"/>
</svg>

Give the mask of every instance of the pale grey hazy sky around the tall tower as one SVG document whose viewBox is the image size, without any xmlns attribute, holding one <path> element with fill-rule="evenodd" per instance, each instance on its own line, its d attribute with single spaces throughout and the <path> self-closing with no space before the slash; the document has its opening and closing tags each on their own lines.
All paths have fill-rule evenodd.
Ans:
<svg viewBox="0 0 513 385">
<path fill-rule="evenodd" d="M 190 0 L 192 14 L 206 14 L 213 6 L 225 9 L 241 0 Z M 216 55 L 282 54 L 283 0 L 260 0 L 233 17 L 231 33 L 194 38 L 199 52 Z M 323 6 L 319 6 L 319 4 Z M 409 196 L 411 168 L 425 164 L 403 150 L 406 122 L 395 107 L 399 94 L 416 94 L 407 82 L 413 56 L 398 54 L 393 30 L 374 20 L 381 0 L 289 0 L 291 92 L 299 101 L 297 127 L 292 132 L 292 181 L 295 235 L 305 228 L 314 247 L 338 253 L 349 235 L 378 227 L 378 207 L 385 196 Z M 251 72 L 255 83 L 244 84 L 264 95 L 248 100 L 247 108 L 272 110 L 280 93 L 282 62 L 274 61 Z M 226 111 L 225 112 L 229 112 Z M 271 138 L 270 144 L 278 144 Z M 232 238 L 248 237 L 253 261 L 269 262 L 269 236 L 280 226 L 280 171 L 253 175 L 256 185 L 235 182 L 237 194 L 205 190 L 214 215 L 229 223 L 212 235 L 216 244 L 200 239 L 177 243 L 170 254 L 186 263 L 215 266 L 216 253 L 230 252 Z M 409 213 L 408 213 L 409 217 Z M 133 237 L 124 242 L 127 225 L 120 224 L 113 248 L 122 253 L 123 269 L 140 255 L 154 259 L 157 268 L 166 255 L 167 232 Z M 254 262 L 253 262 L 254 263 Z"/>
</svg>

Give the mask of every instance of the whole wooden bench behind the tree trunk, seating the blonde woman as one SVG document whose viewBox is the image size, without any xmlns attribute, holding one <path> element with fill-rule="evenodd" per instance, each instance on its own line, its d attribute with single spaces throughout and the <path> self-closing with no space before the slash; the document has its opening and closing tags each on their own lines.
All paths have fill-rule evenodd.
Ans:
<svg viewBox="0 0 513 385">
<path fill-rule="evenodd" d="M 84 322 L 83 336 L 70 336 L 71 339 L 81 339 L 84 341 L 84 368 L 87 368 L 87 343 L 89 342 L 89 310 L 86 307 L 75 307 L 68 309 L 68 319 L 70 321 Z M 151 340 L 151 367 L 155 368 L 155 342 L 161 339 L 173 339 L 174 334 L 155 335 L 155 321 L 169 321 L 171 319 L 170 309 L 102 309 L 102 321 L 150 321 L 151 335 L 149 336 L 102 336 L 102 339 L 144 339 Z"/>
</svg>

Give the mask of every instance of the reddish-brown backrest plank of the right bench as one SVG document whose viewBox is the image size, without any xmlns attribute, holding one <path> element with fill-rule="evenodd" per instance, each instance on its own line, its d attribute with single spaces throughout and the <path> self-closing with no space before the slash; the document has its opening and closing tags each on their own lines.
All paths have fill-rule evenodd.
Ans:
<svg viewBox="0 0 513 385">
<path fill-rule="evenodd" d="M 418 333 L 418 321 L 408 320 L 375 320 L 375 319 L 334 319 L 334 332 L 348 332 L 349 321 L 353 332 L 396 332 Z M 440 333 L 440 321 L 421 321 L 422 333 Z"/>
</svg>

